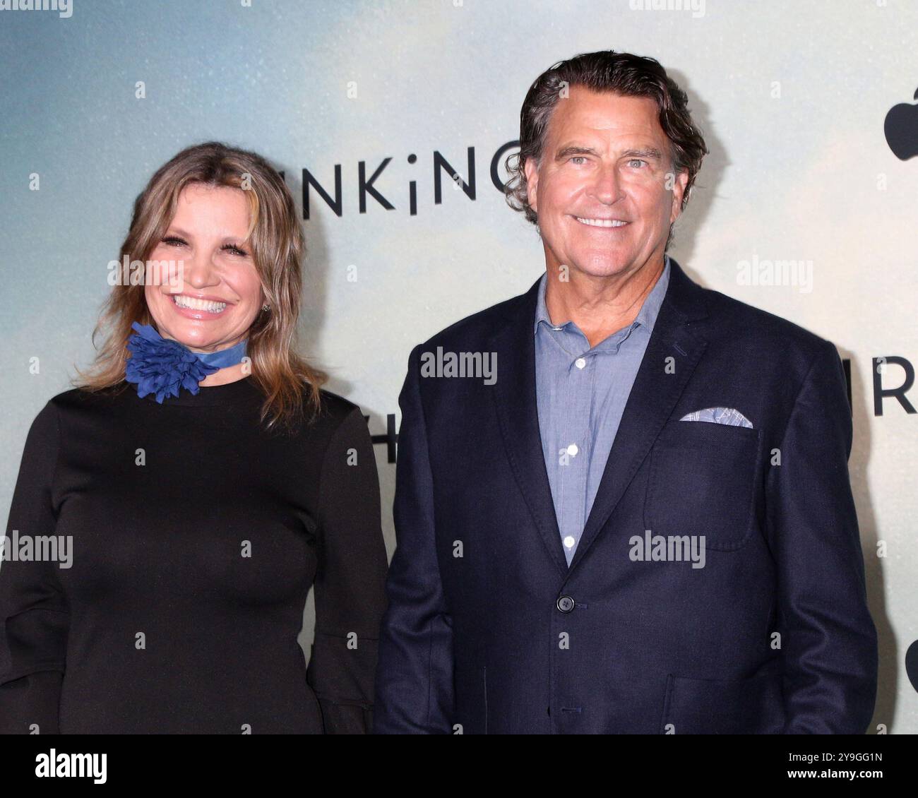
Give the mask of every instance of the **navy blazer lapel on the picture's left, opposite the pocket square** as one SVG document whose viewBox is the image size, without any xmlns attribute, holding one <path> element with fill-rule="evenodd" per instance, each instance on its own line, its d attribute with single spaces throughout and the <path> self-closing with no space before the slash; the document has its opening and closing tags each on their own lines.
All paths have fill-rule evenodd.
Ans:
<svg viewBox="0 0 918 798">
<path fill-rule="evenodd" d="M 532 513 L 548 556 L 563 576 L 567 559 L 561 545 L 552 488 L 545 470 L 539 411 L 535 398 L 535 303 L 539 282 L 518 298 L 509 324 L 493 338 L 498 380 L 492 396 L 510 467 Z"/>
</svg>

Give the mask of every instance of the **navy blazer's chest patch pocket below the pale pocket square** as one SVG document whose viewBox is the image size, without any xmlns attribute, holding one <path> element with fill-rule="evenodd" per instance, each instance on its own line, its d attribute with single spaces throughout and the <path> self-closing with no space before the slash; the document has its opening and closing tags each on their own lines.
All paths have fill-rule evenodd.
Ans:
<svg viewBox="0 0 918 798">
<path fill-rule="evenodd" d="M 744 545 L 754 525 L 758 436 L 711 421 L 666 424 L 651 450 L 645 529 L 704 535 L 715 551 Z"/>
</svg>

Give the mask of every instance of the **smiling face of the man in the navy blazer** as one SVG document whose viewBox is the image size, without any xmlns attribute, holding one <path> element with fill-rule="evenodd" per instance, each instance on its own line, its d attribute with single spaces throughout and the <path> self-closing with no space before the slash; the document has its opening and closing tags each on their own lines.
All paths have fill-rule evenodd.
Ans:
<svg viewBox="0 0 918 798">
<path fill-rule="evenodd" d="M 662 264 L 689 175 L 673 175 L 658 116 L 650 97 L 578 85 L 558 100 L 540 163 L 525 163 L 550 274 L 562 264 L 599 277 Z"/>
</svg>

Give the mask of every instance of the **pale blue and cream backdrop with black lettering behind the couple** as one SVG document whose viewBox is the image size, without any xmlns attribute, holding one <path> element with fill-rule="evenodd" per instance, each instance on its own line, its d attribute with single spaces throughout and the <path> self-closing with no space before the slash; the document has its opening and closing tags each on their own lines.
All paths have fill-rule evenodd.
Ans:
<svg viewBox="0 0 918 798">
<path fill-rule="evenodd" d="M 409 352 L 543 271 L 503 162 L 532 80 L 609 49 L 662 62 L 711 151 L 671 254 L 845 361 L 871 733 L 918 732 L 913 0 L 0 0 L 4 512 L 30 422 L 92 359 L 134 198 L 221 140 L 296 197 L 302 348 L 368 416 L 391 554 Z"/>
</svg>

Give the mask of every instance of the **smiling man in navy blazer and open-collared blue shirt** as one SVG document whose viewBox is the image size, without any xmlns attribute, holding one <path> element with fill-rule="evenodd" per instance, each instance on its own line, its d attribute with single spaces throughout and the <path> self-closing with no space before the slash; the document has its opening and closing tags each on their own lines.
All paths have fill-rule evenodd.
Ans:
<svg viewBox="0 0 918 798">
<path fill-rule="evenodd" d="M 507 190 L 546 270 L 411 353 L 377 733 L 870 721 L 842 365 L 666 255 L 707 152 L 686 103 L 615 52 L 526 96 Z"/>
</svg>

